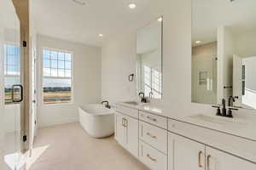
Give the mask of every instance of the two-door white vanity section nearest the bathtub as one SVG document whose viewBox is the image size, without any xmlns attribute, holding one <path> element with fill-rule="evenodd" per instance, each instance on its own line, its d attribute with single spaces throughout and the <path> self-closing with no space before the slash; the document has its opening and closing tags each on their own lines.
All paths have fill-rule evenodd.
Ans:
<svg viewBox="0 0 256 170">
<path fill-rule="evenodd" d="M 138 157 L 138 120 L 116 111 L 115 139 L 133 156 Z"/>
</svg>

